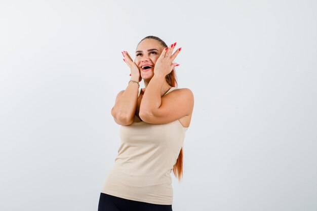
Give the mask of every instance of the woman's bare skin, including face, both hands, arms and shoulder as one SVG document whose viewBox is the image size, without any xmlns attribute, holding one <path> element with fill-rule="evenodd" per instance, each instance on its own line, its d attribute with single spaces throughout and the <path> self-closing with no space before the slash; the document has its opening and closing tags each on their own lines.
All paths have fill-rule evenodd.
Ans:
<svg viewBox="0 0 317 211">
<path fill-rule="evenodd" d="M 183 127 L 189 126 L 194 104 L 192 92 L 183 88 L 164 95 L 171 88 L 165 76 L 177 65 L 173 63 L 179 54 L 178 49 L 173 53 L 175 45 L 172 44 L 172 47 L 170 45 L 165 50 L 159 41 L 144 39 L 136 49 L 134 61 L 128 52 L 123 52 L 124 60 L 131 70 L 131 80 L 143 79 L 145 88 L 138 97 L 137 83 L 130 82 L 126 90 L 117 94 L 111 109 L 116 123 L 129 125 L 136 115 L 139 120 L 147 123 L 160 124 L 179 120 Z M 153 67 L 141 69 L 145 64 Z"/>
</svg>

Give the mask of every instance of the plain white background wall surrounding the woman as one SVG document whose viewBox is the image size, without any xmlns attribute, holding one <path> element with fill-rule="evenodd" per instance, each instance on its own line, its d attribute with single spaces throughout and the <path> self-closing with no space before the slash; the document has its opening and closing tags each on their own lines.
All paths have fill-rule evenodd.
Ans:
<svg viewBox="0 0 317 211">
<path fill-rule="evenodd" d="M 0 210 L 97 210 L 147 35 L 194 94 L 173 210 L 317 210 L 316 1 L 0 2 Z M 141 87 L 143 83 L 141 83 Z"/>
</svg>

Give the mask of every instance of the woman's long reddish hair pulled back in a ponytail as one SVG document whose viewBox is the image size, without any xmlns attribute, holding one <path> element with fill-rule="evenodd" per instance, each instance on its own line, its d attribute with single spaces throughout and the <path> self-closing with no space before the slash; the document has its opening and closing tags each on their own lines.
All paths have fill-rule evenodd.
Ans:
<svg viewBox="0 0 317 211">
<path fill-rule="evenodd" d="M 146 36 L 143 39 L 141 39 L 141 41 L 143 41 L 144 39 L 155 39 L 155 40 L 159 41 L 160 44 L 164 48 L 168 47 L 166 45 L 165 41 L 163 41 L 162 39 L 160 39 L 157 36 Z M 139 42 L 139 44 L 141 43 L 141 41 Z M 176 74 L 175 74 L 175 69 L 173 69 L 169 74 L 167 74 L 165 76 L 165 79 L 166 79 L 166 82 L 171 87 L 176 87 L 177 88 L 177 78 L 176 78 Z M 179 152 L 178 158 L 176 160 L 176 163 L 173 166 L 173 173 L 174 173 L 175 177 L 178 178 L 178 181 L 180 181 L 182 176 L 183 176 L 183 147 L 180 149 L 180 152 Z"/>
</svg>

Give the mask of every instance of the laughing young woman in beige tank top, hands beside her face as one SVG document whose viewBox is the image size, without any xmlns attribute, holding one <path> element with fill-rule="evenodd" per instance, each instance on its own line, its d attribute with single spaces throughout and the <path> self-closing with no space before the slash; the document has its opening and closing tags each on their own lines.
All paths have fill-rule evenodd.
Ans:
<svg viewBox="0 0 317 211">
<path fill-rule="evenodd" d="M 189 89 L 176 89 L 173 60 L 181 48 L 156 36 L 143 38 L 135 60 L 122 52 L 130 67 L 126 90 L 111 110 L 121 126 L 121 145 L 103 184 L 98 211 L 172 210 L 171 172 L 182 176 L 182 144 L 193 110 Z M 145 88 L 139 88 L 144 80 Z"/>
</svg>

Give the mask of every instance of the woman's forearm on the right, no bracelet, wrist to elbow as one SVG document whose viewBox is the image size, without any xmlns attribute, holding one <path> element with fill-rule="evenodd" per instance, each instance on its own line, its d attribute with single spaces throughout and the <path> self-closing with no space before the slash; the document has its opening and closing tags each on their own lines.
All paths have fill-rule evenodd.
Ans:
<svg viewBox="0 0 317 211">
<path fill-rule="evenodd" d="M 165 76 L 155 75 L 151 78 L 143 95 L 140 113 L 152 113 L 159 109 L 162 103 L 161 90 L 165 81 Z"/>
</svg>

